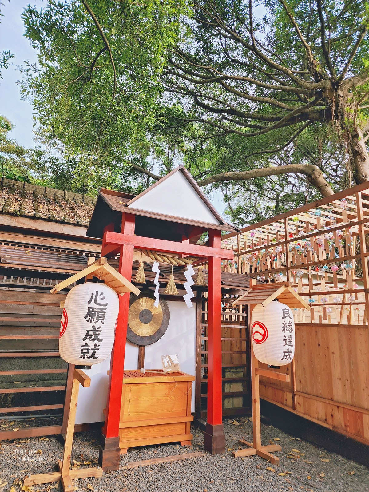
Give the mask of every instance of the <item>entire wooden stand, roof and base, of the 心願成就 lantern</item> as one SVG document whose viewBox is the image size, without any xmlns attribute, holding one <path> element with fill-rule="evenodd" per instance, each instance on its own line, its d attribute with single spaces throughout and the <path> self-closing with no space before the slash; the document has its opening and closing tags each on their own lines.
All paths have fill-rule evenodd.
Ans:
<svg viewBox="0 0 369 492">
<path fill-rule="evenodd" d="M 89 258 L 88 266 L 84 270 L 81 270 L 81 272 L 78 272 L 77 274 L 72 275 L 66 280 L 58 283 L 53 289 L 51 289 L 51 293 L 55 294 L 56 292 L 69 287 L 69 285 L 77 282 L 77 280 L 80 280 L 81 278 L 85 278 L 85 280 L 88 280 L 92 277 L 103 278 L 104 283 L 114 289 L 120 297 L 122 296 L 122 294 L 129 292 L 134 292 L 136 295 L 140 293 L 137 287 L 135 287 L 131 282 L 129 282 L 129 280 L 123 277 L 119 272 L 117 272 L 112 266 L 108 264 L 106 258 L 99 258 L 94 262 L 92 261 L 92 258 Z M 61 303 L 61 307 L 63 306 L 64 302 Z M 89 388 L 91 384 L 91 378 L 81 369 L 74 369 L 72 392 L 69 402 L 69 412 L 67 417 L 67 426 L 64 440 L 63 459 L 58 460 L 59 471 L 51 473 L 39 473 L 37 475 L 28 475 L 24 479 L 24 487 L 31 487 L 32 485 L 38 484 L 49 484 L 52 482 L 58 482 L 62 479 L 62 487 L 65 492 L 73 490 L 72 480 L 74 479 L 102 477 L 103 469 L 100 466 L 96 468 L 84 468 L 81 470 L 70 469 L 70 457 L 72 454 L 73 433 L 76 421 L 78 391 L 80 384 L 83 386 L 83 388 Z"/>
</svg>

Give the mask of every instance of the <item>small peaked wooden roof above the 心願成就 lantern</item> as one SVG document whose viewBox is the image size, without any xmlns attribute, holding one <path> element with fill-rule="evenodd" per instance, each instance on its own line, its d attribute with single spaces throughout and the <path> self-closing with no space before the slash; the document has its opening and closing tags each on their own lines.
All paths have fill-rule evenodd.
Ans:
<svg viewBox="0 0 369 492">
<path fill-rule="evenodd" d="M 60 290 L 69 287 L 69 285 L 77 282 L 77 280 L 80 280 L 83 277 L 98 277 L 101 280 L 104 280 L 104 283 L 115 290 L 118 295 L 124 294 L 124 292 L 133 292 L 136 296 L 138 296 L 140 294 L 140 289 L 117 272 L 117 270 L 109 265 L 107 261 L 107 258 L 99 258 L 97 261 L 84 268 L 77 274 L 72 275 L 66 280 L 58 283 L 53 289 L 51 289 L 50 292 L 52 294 L 56 294 Z"/>
</svg>

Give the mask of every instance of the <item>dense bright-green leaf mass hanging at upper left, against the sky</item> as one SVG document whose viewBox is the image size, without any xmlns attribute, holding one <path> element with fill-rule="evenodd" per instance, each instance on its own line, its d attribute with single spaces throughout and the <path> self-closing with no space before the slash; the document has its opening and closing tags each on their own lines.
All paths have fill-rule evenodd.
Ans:
<svg viewBox="0 0 369 492">
<path fill-rule="evenodd" d="M 23 93 L 50 141 L 78 157 L 93 188 L 116 183 L 153 122 L 165 53 L 179 32 L 184 2 L 48 0 L 23 13 L 38 52 Z M 77 177 L 75 177 L 77 179 Z"/>
</svg>

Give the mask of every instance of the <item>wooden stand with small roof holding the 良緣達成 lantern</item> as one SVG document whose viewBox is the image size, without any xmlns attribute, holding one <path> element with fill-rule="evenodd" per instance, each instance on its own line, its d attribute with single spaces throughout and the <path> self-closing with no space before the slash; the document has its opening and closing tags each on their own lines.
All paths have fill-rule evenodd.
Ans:
<svg viewBox="0 0 369 492">
<path fill-rule="evenodd" d="M 270 377 L 279 381 L 289 382 L 289 374 L 276 372 L 271 369 L 259 368 L 259 361 L 256 359 L 252 347 L 252 332 L 251 332 L 251 315 L 254 307 L 262 304 L 264 307 L 270 302 L 278 299 L 281 303 L 288 307 L 305 307 L 309 309 L 309 305 L 297 294 L 291 287 L 290 282 L 278 282 L 256 285 L 256 280 L 250 280 L 250 290 L 242 297 L 232 303 L 233 306 L 246 304 L 248 306 L 248 327 L 250 340 L 250 355 L 251 355 L 251 408 L 252 408 L 252 435 L 253 442 L 247 442 L 244 439 L 239 439 L 239 444 L 247 446 L 246 449 L 233 451 L 234 458 L 239 456 L 260 456 L 264 460 L 268 460 L 275 465 L 279 465 L 279 458 L 272 453 L 281 451 L 282 448 L 278 444 L 261 445 L 261 425 L 260 425 L 260 395 L 259 395 L 259 376 Z"/>
</svg>

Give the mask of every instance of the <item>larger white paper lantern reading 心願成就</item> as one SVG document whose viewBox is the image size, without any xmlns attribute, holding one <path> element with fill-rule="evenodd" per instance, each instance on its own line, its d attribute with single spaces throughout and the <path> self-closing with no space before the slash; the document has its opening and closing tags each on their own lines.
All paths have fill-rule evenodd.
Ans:
<svg viewBox="0 0 369 492">
<path fill-rule="evenodd" d="M 64 361 L 79 366 L 110 357 L 119 311 L 118 294 L 104 283 L 86 282 L 66 296 L 59 335 Z"/>
</svg>

